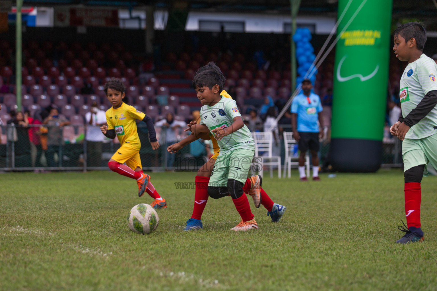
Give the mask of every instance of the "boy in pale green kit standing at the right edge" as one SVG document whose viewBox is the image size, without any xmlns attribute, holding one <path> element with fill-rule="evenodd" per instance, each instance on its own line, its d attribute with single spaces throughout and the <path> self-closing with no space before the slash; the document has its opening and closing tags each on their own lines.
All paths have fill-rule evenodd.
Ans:
<svg viewBox="0 0 437 291">
<path fill-rule="evenodd" d="M 396 242 L 421 242 L 420 182 L 428 175 L 428 162 L 437 168 L 437 65 L 422 53 L 427 41 L 422 24 L 402 24 L 393 38 L 396 57 L 408 62 L 399 86 L 402 117 L 390 128 L 392 135 L 403 140 L 407 228 L 398 226 L 406 234 Z"/>
</svg>

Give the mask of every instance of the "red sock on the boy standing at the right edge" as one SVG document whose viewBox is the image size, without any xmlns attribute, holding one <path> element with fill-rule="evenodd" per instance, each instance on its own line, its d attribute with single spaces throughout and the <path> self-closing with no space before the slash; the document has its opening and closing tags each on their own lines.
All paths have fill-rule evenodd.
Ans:
<svg viewBox="0 0 437 291">
<path fill-rule="evenodd" d="M 405 183 L 405 216 L 408 227 L 420 227 L 420 189 L 420 183 Z"/>
</svg>

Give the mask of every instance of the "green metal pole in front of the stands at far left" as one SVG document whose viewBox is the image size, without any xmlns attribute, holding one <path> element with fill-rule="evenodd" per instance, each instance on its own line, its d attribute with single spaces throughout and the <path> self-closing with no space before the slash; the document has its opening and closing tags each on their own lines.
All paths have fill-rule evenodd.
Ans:
<svg viewBox="0 0 437 291">
<path fill-rule="evenodd" d="M 17 18 L 16 18 L 16 24 L 15 24 L 15 88 L 16 88 L 16 95 L 17 95 L 17 110 L 21 111 L 21 64 L 22 64 L 22 58 L 21 58 L 21 45 L 22 45 L 22 38 L 21 38 L 21 7 L 23 6 L 23 0 L 17 0 Z"/>
</svg>

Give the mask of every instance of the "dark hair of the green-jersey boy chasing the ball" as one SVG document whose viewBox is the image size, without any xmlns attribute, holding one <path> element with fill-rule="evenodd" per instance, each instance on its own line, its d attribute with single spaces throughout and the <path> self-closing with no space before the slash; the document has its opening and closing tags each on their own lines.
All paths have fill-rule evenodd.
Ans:
<svg viewBox="0 0 437 291">
<path fill-rule="evenodd" d="M 218 68 L 214 62 L 209 62 L 208 65 L 204 65 L 194 73 L 192 84 L 194 89 L 201 87 L 212 89 L 212 87 L 217 84 L 219 92 L 222 92 L 225 86 L 225 79 L 220 68 Z"/>
</svg>

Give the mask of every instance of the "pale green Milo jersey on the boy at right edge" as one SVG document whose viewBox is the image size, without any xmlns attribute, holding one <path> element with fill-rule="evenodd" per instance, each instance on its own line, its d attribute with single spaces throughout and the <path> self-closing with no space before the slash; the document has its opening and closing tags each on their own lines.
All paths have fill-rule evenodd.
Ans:
<svg viewBox="0 0 437 291">
<path fill-rule="evenodd" d="M 437 65 L 432 58 L 422 54 L 419 59 L 409 63 L 401 77 L 399 98 L 402 116 L 416 108 L 428 92 L 437 90 Z M 413 125 L 405 138 L 420 139 L 437 134 L 437 105 L 418 123 Z"/>
</svg>

